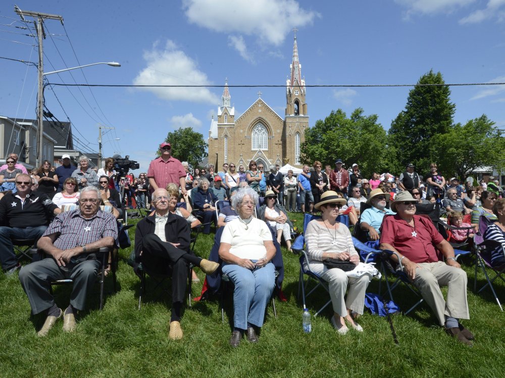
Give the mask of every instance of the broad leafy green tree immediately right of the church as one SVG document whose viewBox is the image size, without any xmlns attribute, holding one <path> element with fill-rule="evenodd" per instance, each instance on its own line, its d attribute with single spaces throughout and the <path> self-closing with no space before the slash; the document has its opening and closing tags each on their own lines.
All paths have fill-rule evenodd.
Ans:
<svg viewBox="0 0 505 378">
<path fill-rule="evenodd" d="M 365 177 L 376 170 L 391 169 L 386 131 L 377 123 L 377 115 L 363 113 L 358 108 L 347 118 L 338 109 L 306 129 L 301 160 L 309 165 L 319 160 L 323 165 L 334 166 L 335 159 L 340 158 L 347 166 L 359 164 Z"/>
</svg>

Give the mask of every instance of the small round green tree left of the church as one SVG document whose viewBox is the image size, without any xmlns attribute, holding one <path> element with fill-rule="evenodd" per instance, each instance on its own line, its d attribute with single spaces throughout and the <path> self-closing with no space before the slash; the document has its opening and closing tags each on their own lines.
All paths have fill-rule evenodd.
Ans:
<svg viewBox="0 0 505 378">
<path fill-rule="evenodd" d="M 190 166 L 197 164 L 207 156 L 207 143 L 204 135 L 193 131 L 191 127 L 179 127 L 178 130 L 170 131 L 165 141 L 172 146 L 172 156 L 180 161 L 187 161 Z M 158 156 L 160 151 L 158 151 Z"/>
</svg>

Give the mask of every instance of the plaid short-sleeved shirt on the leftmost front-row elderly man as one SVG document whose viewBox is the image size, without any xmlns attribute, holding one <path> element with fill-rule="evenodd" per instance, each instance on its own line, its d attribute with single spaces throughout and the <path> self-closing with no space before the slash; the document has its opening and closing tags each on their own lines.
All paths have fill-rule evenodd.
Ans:
<svg viewBox="0 0 505 378">
<path fill-rule="evenodd" d="M 107 237 L 116 240 L 118 226 L 116 218 L 111 213 L 98 210 L 92 218 L 84 218 L 80 210 L 72 210 L 59 214 L 47 227 L 42 237 L 55 233 L 58 234 L 58 239 L 54 246 L 67 250 Z"/>
</svg>

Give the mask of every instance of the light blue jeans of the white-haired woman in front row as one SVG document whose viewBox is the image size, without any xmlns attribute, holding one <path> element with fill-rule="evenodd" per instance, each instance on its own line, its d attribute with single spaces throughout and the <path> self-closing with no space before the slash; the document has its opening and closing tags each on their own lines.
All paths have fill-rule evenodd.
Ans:
<svg viewBox="0 0 505 378">
<path fill-rule="evenodd" d="M 255 260 L 252 260 L 255 261 Z M 263 268 L 250 270 L 224 263 L 222 272 L 230 277 L 233 291 L 233 325 L 247 329 L 247 323 L 263 325 L 265 309 L 275 286 L 275 267 L 269 262 Z"/>
</svg>

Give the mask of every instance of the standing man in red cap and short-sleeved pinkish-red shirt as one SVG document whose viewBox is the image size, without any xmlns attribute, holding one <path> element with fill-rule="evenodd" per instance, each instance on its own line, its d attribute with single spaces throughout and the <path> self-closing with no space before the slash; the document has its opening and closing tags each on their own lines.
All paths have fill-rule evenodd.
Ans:
<svg viewBox="0 0 505 378">
<path fill-rule="evenodd" d="M 165 189 L 171 182 L 180 186 L 182 195 L 186 194 L 186 170 L 182 163 L 172 157 L 172 146 L 163 142 L 160 145 L 161 156 L 149 164 L 147 177 L 149 190 L 153 193 L 158 188 Z"/>
</svg>

